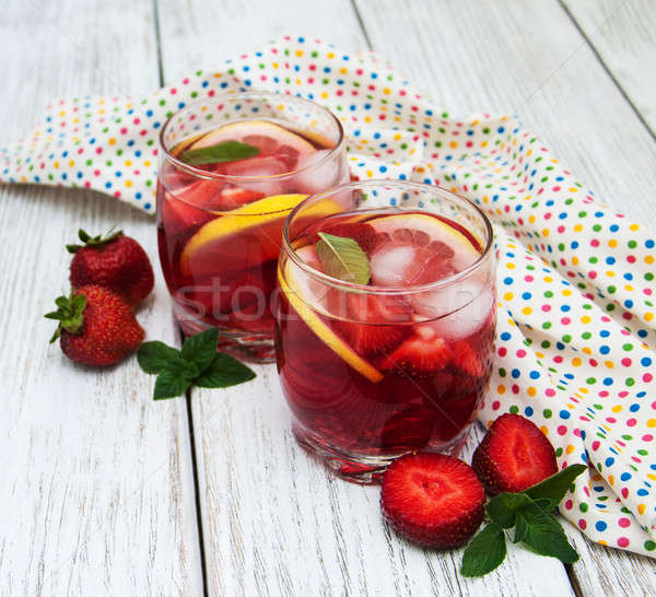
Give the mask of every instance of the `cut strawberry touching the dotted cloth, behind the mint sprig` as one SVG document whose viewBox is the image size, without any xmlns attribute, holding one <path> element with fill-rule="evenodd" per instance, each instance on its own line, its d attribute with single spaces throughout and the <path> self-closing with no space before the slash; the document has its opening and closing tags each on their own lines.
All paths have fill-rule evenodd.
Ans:
<svg viewBox="0 0 656 597">
<path fill-rule="evenodd" d="M 471 466 L 490 495 L 518 492 L 558 472 L 544 434 L 519 414 L 502 414 L 473 453 Z"/>
</svg>

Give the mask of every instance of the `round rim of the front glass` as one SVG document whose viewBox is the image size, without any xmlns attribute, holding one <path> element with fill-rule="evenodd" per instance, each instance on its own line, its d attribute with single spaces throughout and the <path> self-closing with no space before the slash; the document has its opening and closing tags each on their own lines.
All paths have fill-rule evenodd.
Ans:
<svg viewBox="0 0 656 597">
<path fill-rule="evenodd" d="M 411 190 L 411 189 L 421 190 L 424 192 L 426 192 L 426 191 L 427 192 L 438 192 L 442 195 L 446 195 L 452 201 L 465 202 L 470 208 L 472 208 L 473 211 L 482 220 L 482 222 L 484 224 L 485 234 L 488 237 L 487 242 L 484 243 L 484 246 L 482 247 L 482 251 L 479 255 L 479 257 L 476 259 L 476 261 L 473 261 L 473 264 L 471 264 L 464 270 L 453 273 L 452 276 L 447 276 L 446 278 L 442 278 L 441 280 L 435 280 L 434 282 L 427 282 L 424 284 L 418 284 L 418 285 L 413 285 L 413 286 L 412 285 L 411 286 L 376 286 L 376 285 L 368 285 L 368 284 L 356 284 L 354 282 L 339 280 L 338 278 L 333 278 L 332 276 L 328 276 L 327 273 L 323 273 L 323 272 L 318 271 L 317 269 L 313 268 L 311 265 L 306 264 L 303 260 L 303 258 L 301 258 L 298 256 L 296 250 L 292 247 L 292 242 L 290 241 L 289 232 L 290 232 L 290 223 L 293 221 L 294 216 L 304 207 L 306 207 L 311 203 L 317 202 L 320 199 L 326 199 L 332 195 L 337 195 L 339 192 L 343 192 L 343 191 L 348 191 L 348 190 L 359 190 L 362 188 L 370 188 L 370 187 L 379 187 L 383 185 L 401 187 L 403 189 L 409 189 L 409 190 Z M 382 209 L 390 210 L 390 211 L 396 210 L 398 212 L 410 211 L 410 210 L 405 210 L 402 208 L 399 209 L 398 207 L 393 207 L 393 206 L 386 206 Z M 418 208 L 418 210 L 423 211 L 427 214 L 432 213 L 424 208 Z M 413 210 L 413 211 L 418 211 L 418 210 Z M 491 258 L 492 253 L 493 253 L 493 250 L 492 250 L 493 246 L 494 246 L 494 231 L 492 227 L 492 222 L 485 215 L 485 213 L 471 199 L 468 199 L 467 197 L 452 192 L 450 190 L 445 189 L 444 187 L 441 187 L 437 185 L 426 185 L 423 183 L 411 183 L 411 182 L 399 180 L 399 179 L 394 179 L 394 178 L 391 178 L 391 179 L 390 178 L 374 178 L 374 179 L 368 179 L 368 180 L 358 180 L 354 183 L 347 183 L 344 185 L 339 185 L 339 186 L 332 187 L 328 190 L 312 195 L 307 199 L 304 199 L 294 209 L 292 209 L 290 214 L 285 218 L 284 224 L 282 226 L 281 248 L 285 253 L 285 255 L 290 259 L 292 259 L 292 261 L 296 266 L 298 266 L 309 277 L 314 278 L 315 280 L 317 280 L 321 283 L 329 284 L 333 288 L 343 290 L 345 292 L 354 292 L 354 293 L 356 292 L 356 293 L 361 293 L 361 294 L 366 293 L 366 294 L 397 295 L 397 294 L 409 294 L 409 293 L 419 294 L 422 292 L 440 290 L 440 289 L 447 288 L 452 284 L 455 284 L 457 282 L 460 282 L 461 280 L 469 278 L 475 272 L 477 272 L 481 268 L 481 266 L 483 266 Z"/>
</svg>

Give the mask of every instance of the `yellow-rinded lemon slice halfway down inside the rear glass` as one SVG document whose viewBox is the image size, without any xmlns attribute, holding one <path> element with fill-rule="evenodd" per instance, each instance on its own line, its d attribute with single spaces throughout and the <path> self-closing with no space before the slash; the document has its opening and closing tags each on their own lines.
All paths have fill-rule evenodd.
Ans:
<svg viewBox="0 0 656 597">
<path fill-rule="evenodd" d="M 246 203 L 202 226 L 185 245 L 180 255 L 180 269 L 185 276 L 211 268 L 211 260 L 216 253 L 230 251 L 227 242 L 235 235 L 251 235 L 257 245 L 256 255 L 249 256 L 249 266 L 276 259 L 280 253 L 282 224 L 290 211 L 307 195 L 272 195 L 253 203 Z M 307 208 L 302 218 L 321 218 L 343 211 L 336 201 L 321 201 Z M 245 244 L 237 244 L 243 249 Z M 233 247 L 235 248 L 235 247 Z M 238 256 L 237 256 L 238 257 Z M 242 256 L 243 258 L 244 256 Z"/>
</svg>

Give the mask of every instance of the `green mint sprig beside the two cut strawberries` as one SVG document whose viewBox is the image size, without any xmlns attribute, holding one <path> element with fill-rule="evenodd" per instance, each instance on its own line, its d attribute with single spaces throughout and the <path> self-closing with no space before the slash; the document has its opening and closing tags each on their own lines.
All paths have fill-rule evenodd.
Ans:
<svg viewBox="0 0 656 597">
<path fill-rule="evenodd" d="M 485 504 L 488 525 L 470 541 L 462 555 L 464 576 L 483 576 L 505 560 L 506 531 L 541 555 L 571 564 L 578 553 L 570 545 L 553 508 L 587 467 L 572 465 L 519 493 L 500 493 Z"/>
</svg>

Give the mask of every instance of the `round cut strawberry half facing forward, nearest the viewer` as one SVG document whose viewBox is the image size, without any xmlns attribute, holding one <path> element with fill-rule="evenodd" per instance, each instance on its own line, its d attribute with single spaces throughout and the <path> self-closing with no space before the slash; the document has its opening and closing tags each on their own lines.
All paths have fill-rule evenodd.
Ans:
<svg viewBox="0 0 656 597">
<path fill-rule="evenodd" d="M 387 522 L 429 548 L 461 546 L 483 520 L 485 492 L 469 465 L 444 454 L 408 454 L 383 475 L 380 506 Z"/>
</svg>

